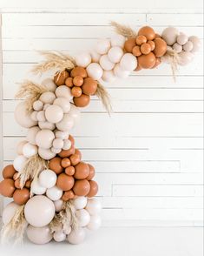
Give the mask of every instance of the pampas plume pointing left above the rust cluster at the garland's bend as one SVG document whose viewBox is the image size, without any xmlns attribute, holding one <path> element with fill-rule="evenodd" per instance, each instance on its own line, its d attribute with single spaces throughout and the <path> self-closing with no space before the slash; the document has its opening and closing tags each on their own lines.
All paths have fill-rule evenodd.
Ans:
<svg viewBox="0 0 204 256">
<path fill-rule="evenodd" d="M 74 58 L 62 52 L 40 51 L 40 53 L 45 57 L 45 61 L 33 68 L 32 72 L 36 74 L 46 71 L 69 71 L 76 66 Z"/>
</svg>

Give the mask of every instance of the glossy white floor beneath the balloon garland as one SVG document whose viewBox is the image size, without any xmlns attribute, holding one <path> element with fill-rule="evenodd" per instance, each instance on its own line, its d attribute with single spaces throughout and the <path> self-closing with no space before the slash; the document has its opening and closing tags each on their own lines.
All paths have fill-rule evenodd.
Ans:
<svg viewBox="0 0 204 256">
<path fill-rule="evenodd" d="M 82 245 L 1 246 L 1 256 L 202 256 L 201 227 L 113 227 L 90 233 Z"/>
</svg>

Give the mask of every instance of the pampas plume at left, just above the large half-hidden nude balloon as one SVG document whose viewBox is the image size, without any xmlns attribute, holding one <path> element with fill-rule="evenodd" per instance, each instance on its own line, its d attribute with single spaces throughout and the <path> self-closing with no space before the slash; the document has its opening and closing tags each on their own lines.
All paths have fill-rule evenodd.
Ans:
<svg viewBox="0 0 204 256">
<path fill-rule="evenodd" d="M 31 111 L 33 103 L 40 98 L 41 94 L 45 91 L 49 91 L 46 86 L 26 80 L 21 84 L 19 91 L 16 93 L 16 98 L 24 98 L 27 111 Z"/>
</svg>

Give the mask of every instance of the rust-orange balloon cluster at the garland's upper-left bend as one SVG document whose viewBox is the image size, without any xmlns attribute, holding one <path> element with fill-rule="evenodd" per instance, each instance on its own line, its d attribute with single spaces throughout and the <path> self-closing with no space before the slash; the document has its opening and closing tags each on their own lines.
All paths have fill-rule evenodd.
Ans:
<svg viewBox="0 0 204 256">
<path fill-rule="evenodd" d="M 57 72 L 54 81 L 57 86 L 65 84 L 71 89 L 74 104 L 78 107 L 88 105 L 90 95 L 94 95 L 97 90 L 97 81 L 88 77 L 87 71 L 80 66 L 70 72 Z"/>
</svg>

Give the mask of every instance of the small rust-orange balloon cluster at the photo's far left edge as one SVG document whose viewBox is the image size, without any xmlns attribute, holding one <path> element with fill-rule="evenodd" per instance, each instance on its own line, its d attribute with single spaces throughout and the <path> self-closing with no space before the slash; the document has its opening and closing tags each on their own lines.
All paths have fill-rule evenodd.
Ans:
<svg viewBox="0 0 204 256">
<path fill-rule="evenodd" d="M 16 205 L 24 205 L 30 199 L 31 180 L 27 180 L 23 188 L 20 185 L 18 172 L 13 165 L 3 168 L 3 180 L 0 182 L 0 194 L 13 198 Z"/>
</svg>

